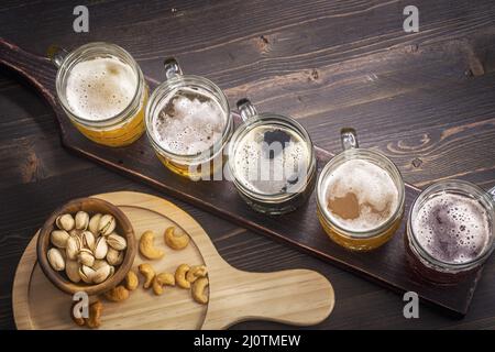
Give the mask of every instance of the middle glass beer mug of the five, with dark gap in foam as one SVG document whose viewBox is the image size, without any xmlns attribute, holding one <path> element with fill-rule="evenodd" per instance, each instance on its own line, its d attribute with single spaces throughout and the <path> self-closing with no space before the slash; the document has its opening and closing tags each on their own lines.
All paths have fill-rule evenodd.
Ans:
<svg viewBox="0 0 495 352">
<path fill-rule="evenodd" d="M 241 99 L 238 109 L 243 123 L 232 136 L 228 163 L 238 193 L 263 213 L 297 209 L 315 187 L 311 139 L 296 120 L 257 113 L 248 99 Z"/>
</svg>

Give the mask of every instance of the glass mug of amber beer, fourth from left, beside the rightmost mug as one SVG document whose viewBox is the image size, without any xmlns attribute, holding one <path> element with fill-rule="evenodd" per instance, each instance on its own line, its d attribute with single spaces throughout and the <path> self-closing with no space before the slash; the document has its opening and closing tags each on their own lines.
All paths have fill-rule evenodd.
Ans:
<svg viewBox="0 0 495 352">
<path fill-rule="evenodd" d="M 343 129 L 341 141 L 344 151 L 328 162 L 318 178 L 318 218 L 336 243 L 373 250 L 400 226 L 404 182 L 385 155 L 358 147 L 353 129 Z"/>
</svg>

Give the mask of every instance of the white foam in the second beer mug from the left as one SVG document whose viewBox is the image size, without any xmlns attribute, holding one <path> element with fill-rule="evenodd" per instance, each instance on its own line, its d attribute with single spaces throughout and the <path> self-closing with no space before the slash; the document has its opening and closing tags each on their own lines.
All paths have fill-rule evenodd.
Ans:
<svg viewBox="0 0 495 352">
<path fill-rule="evenodd" d="M 180 91 L 189 96 L 177 95 L 177 91 L 170 94 L 161 108 L 172 106 L 173 116 L 164 109 L 155 117 L 155 140 L 162 147 L 175 154 L 198 154 L 209 150 L 221 139 L 227 117 L 216 99 L 208 94 L 186 89 Z M 198 99 L 198 96 L 201 99 Z"/>
</svg>

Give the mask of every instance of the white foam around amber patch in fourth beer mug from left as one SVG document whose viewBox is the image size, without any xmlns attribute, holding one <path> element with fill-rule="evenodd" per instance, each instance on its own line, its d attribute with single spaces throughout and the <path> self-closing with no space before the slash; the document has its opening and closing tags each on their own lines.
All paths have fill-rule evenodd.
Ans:
<svg viewBox="0 0 495 352">
<path fill-rule="evenodd" d="M 332 221 L 348 231 L 369 231 L 385 223 L 398 205 L 398 190 L 392 176 L 382 167 L 364 160 L 350 160 L 339 165 L 326 180 L 327 200 L 353 193 L 360 205 L 355 219 L 342 219 L 329 209 Z M 386 211 L 386 216 L 375 213 Z"/>
</svg>

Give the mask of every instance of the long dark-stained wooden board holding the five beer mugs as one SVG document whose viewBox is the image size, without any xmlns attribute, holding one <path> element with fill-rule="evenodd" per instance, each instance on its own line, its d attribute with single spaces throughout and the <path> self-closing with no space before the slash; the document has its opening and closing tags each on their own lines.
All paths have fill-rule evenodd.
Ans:
<svg viewBox="0 0 495 352">
<path fill-rule="evenodd" d="M 406 263 L 405 220 L 420 189 L 406 184 L 405 217 L 400 228 L 388 243 L 370 253 L 350 252 L 331 242 L 321 229 L 316 215 L 315 193 L 307 205 L 297 211 L 277 217 L 255 212 L 245 205 L 232 183 L 228 180 L 194 183 L 167 170 L 157 160 L 146 135 L 130 146 L 118 148 L 101 146 L 87 140 L 72 125 L 57 101 L 56 69 L 46 57 L 25 52 L 0 37 L 0 64 L 18 72 L 52 106 L 61 127 L 62 144 L 67 150 L 243 228 L 268 235 L 339 265 L 343 270 L 394 292 L 415 292 L 422 301 L 441 307 L 451 315 L 463 316 L 466 314 L 482 270 L 470 273 L 454 286 L 442 286 L 416 276 Z M 162 77 L 158 79 L 162 80 L 163 73 L 156 73 L 156 77 Z M 151 77 L 146 77 L 146 79 L 151 89 L 156 87 L 157 79 Z M 234 112 L 232 117 L 239 121 L 239 116 Z M 329 136 L 340 138 L 338 131 L 328 132 Z M 318 146 L 315 150 L 319 173 L 333 154 Z"/>
</svg>

